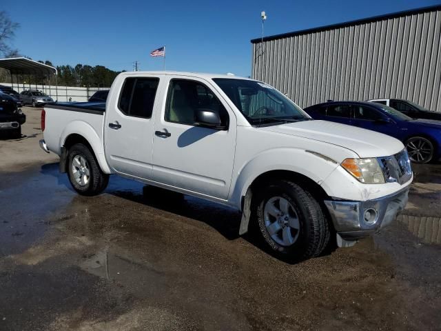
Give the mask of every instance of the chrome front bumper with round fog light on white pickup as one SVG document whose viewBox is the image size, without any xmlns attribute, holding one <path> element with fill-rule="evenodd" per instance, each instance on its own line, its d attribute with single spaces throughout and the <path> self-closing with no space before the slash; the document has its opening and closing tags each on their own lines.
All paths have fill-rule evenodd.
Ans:
<svg viewBox="0 0 441 331">
<path fill-rule="evenodd" d="M 409 187 L 367 201 L 325 200 L 337 235 L 344 241 L 356 241 L 389 225 L 404 209 Z"/>
</svg>

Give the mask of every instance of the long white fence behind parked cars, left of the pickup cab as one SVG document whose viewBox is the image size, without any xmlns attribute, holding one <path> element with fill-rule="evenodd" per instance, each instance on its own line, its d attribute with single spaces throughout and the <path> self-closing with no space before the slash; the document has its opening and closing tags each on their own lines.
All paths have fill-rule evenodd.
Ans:
<svg viewBox="0 0 441 331">
<path fill-rule="evenodd" d="M 48 85 L 31 85 L 29 84 L 11 84 L 11 83 L 0 83 L 0 85 L 10 86 L 14 88 L 17 92 L 29 89 L 37 89 L 45 94 L 48 94 L 52 99 L 58 101 L 88 101 L 92 94 L 98 90 L 108 90 L 109 88 L 76 88 L 74 86 L 48 86 Z M 58 92 L 57 92 L 58 90 Z M 58 98 L 57 98 L 58 94 Z"/>
</svg>

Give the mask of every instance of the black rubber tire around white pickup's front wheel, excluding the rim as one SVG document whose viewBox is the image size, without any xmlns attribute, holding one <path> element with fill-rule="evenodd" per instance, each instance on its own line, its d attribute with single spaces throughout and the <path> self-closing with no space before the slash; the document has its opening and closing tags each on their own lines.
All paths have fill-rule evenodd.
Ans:
<svg viewBox="0 0 441 331">
<path fill-rule="evenodd" d="M 294 232 L 296 235 L 296 240 L 291 245 L 283 245 L 283 243 L 277 242 L 271 237 L 267 228 L 269 214 L 265 213 L 265 205 L 271 203 L 270 201 L 276 199 L 276 197 L 288 201 L 290 205 L 289 213 L 295 212 L 298 219 L 299 229 L 289 229 L 291 237 Z M 271 181 L 258 190 L 254 201 L 253 212 L 255 213 L 259 232 L 263 237 L 263 241 L 277 254 L 301 261 L 310 257 L 317 257 L 327 247 L 331 233 L 325 214 L 318 201 L 296 183 L 285 180 Z M 279 205 L 279 208 L 283 209 L 281 205 Z M 274 223 L 271 223 L 271 225 Z M 279 231 L 282 231 L 283 234 L 285 228 Z M 278 234 L 280 232 L 277 233 L 277 236 Z"/>
</svg>

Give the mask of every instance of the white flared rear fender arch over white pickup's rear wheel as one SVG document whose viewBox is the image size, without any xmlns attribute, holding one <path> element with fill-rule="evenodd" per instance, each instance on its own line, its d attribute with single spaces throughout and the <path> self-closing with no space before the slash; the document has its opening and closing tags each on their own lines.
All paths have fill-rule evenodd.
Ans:
<svg viewBox="0 0 441 331">
<path fill-rule="evenodd" d="M 92 150 L 95 154 L 96 160 L 98 161 L 101 170 L 105 174 L 111 173 L 111 170 L 107 165 L 107 161 L 105 161 L 101 137 L 89 123 L 79 120 L 68 123 L 68 125 L 64 128 L 60 135 L 60 147 L 64 146 L 64 143 L 66 139 L 68 139 L 70 134 L 79 134 L 81 137 L 87 140 L 92 147 Z"/>
</svg>

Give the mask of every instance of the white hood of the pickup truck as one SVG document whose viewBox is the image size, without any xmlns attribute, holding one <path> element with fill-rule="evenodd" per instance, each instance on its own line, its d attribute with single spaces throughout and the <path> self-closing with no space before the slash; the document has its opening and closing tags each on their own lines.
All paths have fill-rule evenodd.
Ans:
<svg viewBox="0 0 441 331">
<path fill-rule="evenodd" d="M 301 121 L 261 129 L 331 143 L 359 157 L 387 157 L 404 148 L 401 141 L 386 134 L 329 121 Z"/>
</svg>

